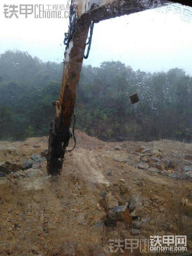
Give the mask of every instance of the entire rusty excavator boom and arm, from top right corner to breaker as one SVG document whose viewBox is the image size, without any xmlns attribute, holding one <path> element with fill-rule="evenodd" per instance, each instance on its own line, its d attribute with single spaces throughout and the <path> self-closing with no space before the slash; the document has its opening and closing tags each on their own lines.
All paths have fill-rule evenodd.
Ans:
<svg viewBox="0 0 192 256">
<path fill-rule="evenodd" d="M 192 6 L 191 0 L 173 1 Z M 66 48 L 61 94 L 59 100 L 53 102 L 56 117 L 50 124 L 47 172 L 52 177 L 61 174 L 66 147 L 69 139 L 74 136 L 74 129 L 72 134 L 70 125 L 72 116 L 75 123 L 76 86 L 79 82 L 83 59 L 89 55 L 94 23 L 166 4 L 170 2 L 165 0 L 71 0 L 69 30 L 65 33 L 64 39 Z M 84 55 L 87 44 L 88 52 Z"/>
</svg>

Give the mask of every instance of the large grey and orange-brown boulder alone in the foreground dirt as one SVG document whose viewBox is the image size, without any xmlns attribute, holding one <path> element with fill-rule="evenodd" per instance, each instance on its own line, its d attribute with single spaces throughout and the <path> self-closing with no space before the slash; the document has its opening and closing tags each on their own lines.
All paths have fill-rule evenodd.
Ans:
<svg viewBox="0 0 192 256">
<path fill-rule="evenodd" d="M 116 226 L 117 222 L 131 223 L 131 216 L 129 209 L 126 206 L 115 206 L 109 211 L 108 218 L 106 220 L 107 226 Z"/>
</svg>

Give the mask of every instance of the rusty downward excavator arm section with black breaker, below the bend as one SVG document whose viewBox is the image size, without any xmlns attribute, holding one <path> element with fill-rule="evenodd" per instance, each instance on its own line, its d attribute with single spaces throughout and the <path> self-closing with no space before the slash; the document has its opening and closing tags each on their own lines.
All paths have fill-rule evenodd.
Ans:
<svg viewBox="0 0 192 256">
<path fill-rule="evenodd" d="M 74 114 L 76 85 L 79 81 L 89 33 L 89 23 L 79 23 L 78 20 L 73 22 L 75 34 L 66 49 L 61 95 L 59 101 L 54 102 L 56 118 L 50 125 L 47 171 L 52 175 L 61 174 L 64 154 L 71 138 L 70 124 Z M 70 36 L 68 35 L 68 38 Z"/>
</svg>

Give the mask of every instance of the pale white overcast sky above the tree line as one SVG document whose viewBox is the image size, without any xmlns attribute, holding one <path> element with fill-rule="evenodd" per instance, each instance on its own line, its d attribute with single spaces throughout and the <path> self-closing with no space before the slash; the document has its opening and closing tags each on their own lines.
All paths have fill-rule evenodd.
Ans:
<svg viewBox="0 0 192 256">
<path fill-rule="evenodd" d="M 51 0 L 43 3 L 56 4 Z M 67 0 L 57 4 L 63 3 Z M 27 3 L 12 0 L 11 4 Z M 1 4 L 0 24 L 0 53 L 18 49 L 43 61 L 63 61 L 68 19 L 35 19 L 32 15 L 5 19 Z M 155 72 L 178 67 L 192 74 L 192 8 L 174 4 L 95 24 L 84 64 L 99 66 L 105 60 L 120 60 L 134 70 Z"/>
</svg>

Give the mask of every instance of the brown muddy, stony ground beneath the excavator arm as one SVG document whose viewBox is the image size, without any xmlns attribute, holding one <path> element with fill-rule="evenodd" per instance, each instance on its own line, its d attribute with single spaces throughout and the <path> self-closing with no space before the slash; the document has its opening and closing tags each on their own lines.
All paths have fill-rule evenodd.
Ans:
<svg viewBox="0 0 192 256">
<path fill-rule="evenodd" d="M 57 182 L 47 176 L 46 161 L 39 163 L 42 172 L 36 176 L 27 177 L 26 170 L 16 176 L 15 169 L 0 178 L 0 255 L 104 256 L 112 254 L 110 239 L 154 235 L 187 235 L 187 253 L 192 252 L 192 183 L 190 175 L 180 178 L 185 166 L 192 166 L 192 145 L 170 140 L 105 143 L 76 133 L 77 146 L 65 155 Z M 47 147 L 47 137 L 0 142 L 0 164 L 19 166 Z M 169 164 L 156 168 L 151 157 Z M 122 212 L 125 206 L 123 219 L 109 219 L 116 206 Z M 113 254 L 143 255 L 140 248 L 123 251 Z"/>
</svg>

